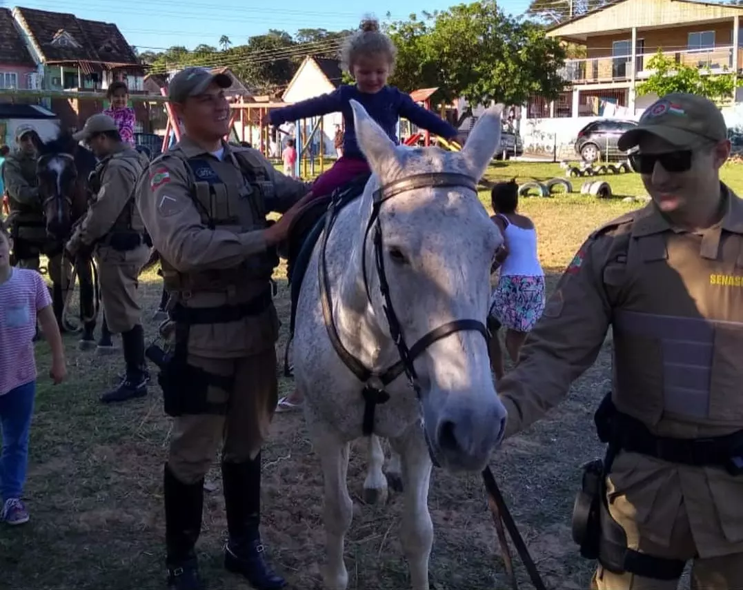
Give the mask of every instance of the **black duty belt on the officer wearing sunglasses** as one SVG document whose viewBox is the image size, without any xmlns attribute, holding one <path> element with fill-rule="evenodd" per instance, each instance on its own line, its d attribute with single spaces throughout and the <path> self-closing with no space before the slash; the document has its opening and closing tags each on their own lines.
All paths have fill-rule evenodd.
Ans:
<svg viewBox="0 0 743 590">
<path fill-rule="evenodd" d="M 624 450 L 669 463 L 724 468 L 733 475 L 743 473 L 743 430 L 704 439 L 656 436 L 642 422 L 617 410 L 609 396 L 597 412 L 596 427 L 601 442 L 615 452 Z"/>
</svg>

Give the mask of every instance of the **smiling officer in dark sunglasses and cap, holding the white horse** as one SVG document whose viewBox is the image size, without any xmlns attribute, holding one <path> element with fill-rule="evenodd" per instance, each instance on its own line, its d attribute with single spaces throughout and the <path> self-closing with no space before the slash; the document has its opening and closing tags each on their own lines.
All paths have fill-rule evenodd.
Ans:
<svg viewBox="0 0 743 590">
<path fill-rule="evenodd" d="M 719 109 L 668 94 L 619 140 L 652 202 L 594 232 L 499 383 L 507 436 L 593 364 L 611 326 L 574 539 L 600 590 L 743 588 L 743 200 L 721 183 Z"/>
</svg>

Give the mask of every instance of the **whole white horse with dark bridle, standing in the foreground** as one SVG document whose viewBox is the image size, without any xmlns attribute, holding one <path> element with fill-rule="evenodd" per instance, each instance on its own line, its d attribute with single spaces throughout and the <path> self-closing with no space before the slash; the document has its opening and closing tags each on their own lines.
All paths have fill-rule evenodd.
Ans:
<svg viewBox="0 0 743 590">
<path fill-rule="evenodd" d="M 428 589 L 432 459 L 451 472 L 481 471 L 506 419 L 484 327 L 490 263 L 503 238 L 476 191 L 499 147 L 503 107 L 491 107 L 452 153 L 395 146 L 363 107 L 351 105 L 374 174 L 361 197 L 331 205 L 302 284 L 293 342 L 325 483 L 323 577 L 328 588 L 348 586 L 349 442 L 369 436 L 365 495 L 383 502 L 383 436 L 396 453 L 391 482 L 399 473 L 403 484 L 400 540 L 412 587 Z"/>
</svg>

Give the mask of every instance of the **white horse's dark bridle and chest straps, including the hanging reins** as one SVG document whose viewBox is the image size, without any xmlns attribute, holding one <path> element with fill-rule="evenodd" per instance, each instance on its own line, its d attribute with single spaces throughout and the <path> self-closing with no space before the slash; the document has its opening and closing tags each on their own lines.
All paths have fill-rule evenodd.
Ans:
<svg viewBox="0 0 743 590">
<path fill-rule="evenodd" d="M 417 189 L 438 189 L 438 188 L 461 188 L 470 191 L 477 192 L 476 181 L 467 176 L 467 174 L 458 174 L 453 172 L 430 172 L 426 174 L 415 174 L 406 178 L 400 178 L 399 180 L 393 180 L 391 183 L 380 186 L 372 194 L 372 205 L 371 215 L 369 216 L 369 223 L 366 224 L 366 231 L 364 232 L 364 240 L 362 244 L 362 269 L 364 288 L 366 289 L 366 298 L 371 303 L 371 294 L 369 293 L 369 281 L 366 275 L 366 240 L 369 237 L 369 232 L 374 231 L 374 263 L 377 267 L 377 275 L 379 277 L 380 292 L 384 300 L 383 309 L 387 318 L 387 324 L 389 324 L 389 333 L 392 336 L 392 340 L 395 341 L 395 347 L 398 349 L 398 355 L 400 360 L 387 368 L 381 373 L 377 373 L 354 357 L 348 350 L 343 346 L 340 341 L 335 323 L 333 321 L 332 304 L 330 298 L 330 284 L 328 281 L 327 265 L 325 262 L 325 250 L 328 246 L 328 236 L 330 235 L 331 229 L 337 219 L 337 214 L 340 211 L 339 204 L 340 190 L 336 191 L 331 199 L 331 203 L 328 206 L 328 213 L 325 216 L 325 228 L 322 232 L 322 245 L 319 251 L 319 260 L 317 264 L 317 272 L 319 275 L 319 289 L 320 289 L 320 301 L 322 303 L 322 317 L 325 320 L 325 328 L 328 330 L 328 337 L 330 338 L 331 344 L 340 356 L 348 370 L 363 383 L 363 396 L 364 396 L 364 416 L 363 416 L 363 434 L 364 436 L 370 436 L 374 432 L 374 410 L 377 404 L 383 404 L 389 400 L 389 393 L 386 392 L 385 387 L 392 383 L 395 378 L 398 378 L 402 373 L 405 373 L 408 382 L 415 390 L 415 395 L 418 396 L 418 401 L 421 400 L 421 387 L 418 384 L 418 374 L 415 373 L 415 367 L 413 362 L 418 356 L 426 351 L 435 341 L 446 338 L 448 335 L 454 334 L 455 332 L 464 332 L 466 330 L 474 330 L 480 332 L 486 341 L 491 337 L 490 332 L 482 321 L 474 319 L 459 319 L 447 322 L 441 326 L 431 330 L 424 336 L 422 336 L 412 347 L 408 347 L 406 344 L 400 321 L 398 316 L 395 314 L 395 309 L 392 307 L 392 298 L 390 297 L 389 282 L 387 281 L 387 275 L 384 271 L 384 248 L 382 238 L 382 228 L 380 226 L 379 212 L 380 208 L 387 200 L 398 194 L 415 191 Z M 422 418 L 421 418 L 422 422 Z M 431 442 L 425 433 L 426 445 L 429 448 L 429 455 L 431 461 L 436 467 L 439 467 L 438 460 L 432 450 Z M 514 589 L 517 589 L 516 576 L 513 572 L 513 561 L 511 560 L 510 550 L 507 545 L 505 537 L 505 528 L 510 534 L 514 545 L 516 545 L 516 551 L 524 562 L 524 566 L 531 578 L 531 582 L 536 590 L 545 590 L 545 584 L 542 578 L 539 576 L 539 571 L 536 570 L 531 555 L 529 554 L 528 548 L 526 547 L 521 534 L 519 534 L 518 528 L 516 528 L 516 522 L 513 521 L 513 517 L 508 510 L 507 505 L 503 499 L 501 491 L 499 490 L 498 484 L 493 477 L 493 472 L 490 471 L 490 466 L 486 466 L 482 472 L 482 478 L 485 485 L 485 489 L 488 494 L 488 504 L 490 510 L 493 513 L 493 521 L 496 525 L 496 531 L 498 533 L 499 544 L 501 545 L 501 551 L 503 554 L 503 560 L 506 567 L 506 571 L 510 576 L 511 584 Z"/>
</svg>

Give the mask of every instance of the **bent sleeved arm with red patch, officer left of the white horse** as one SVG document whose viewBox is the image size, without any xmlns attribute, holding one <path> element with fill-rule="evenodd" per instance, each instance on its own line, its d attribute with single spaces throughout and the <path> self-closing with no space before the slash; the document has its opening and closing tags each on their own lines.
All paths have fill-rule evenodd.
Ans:
<svg viewBox="0 0 743 590">
<path fill-rule="evenodd" d="M 236 234 L 201 223 L 186 168 L 175 157 L 142 174 L 136 200 L 153 246 L 180 272 L 230 268 L 267 247 L 263 230 Z"/>
</svg>

